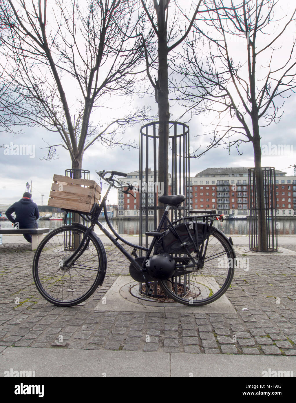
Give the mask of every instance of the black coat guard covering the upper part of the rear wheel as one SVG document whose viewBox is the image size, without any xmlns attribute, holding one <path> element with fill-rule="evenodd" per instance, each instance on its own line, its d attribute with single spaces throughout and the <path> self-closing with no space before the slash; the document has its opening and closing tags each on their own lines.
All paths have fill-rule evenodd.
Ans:
<svg viewBox="0 0 296 403">
<path fill-rule="evenodd" d="M 166 252 L 170 254 L 172 253 L 186 254 L 186 249 L 184 248 L 184 246 L 180 246 L 182 243 L 185 242 L 187 249 L 190 251 L 190 253 L 193 252 L 197 253 L 197 251 L 199 250 L 199 246 L 203 241 L 204 224 L 196 222 L 186 222 L 174 226 L 174 229 L 178 233 L 182 242 L 180 242 L 180 240 L 173 234 L 173 232 L 170 229 L 168 229 L 155 246 L 154 253 L 157 254 Z M 198 239 L 197 245 L 196 245 L 196 232 Z"/>
</svg>

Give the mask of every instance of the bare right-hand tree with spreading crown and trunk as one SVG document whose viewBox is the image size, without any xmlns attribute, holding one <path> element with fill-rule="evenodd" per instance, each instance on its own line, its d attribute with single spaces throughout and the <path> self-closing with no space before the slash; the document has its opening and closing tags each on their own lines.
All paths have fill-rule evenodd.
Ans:
<svg viewBox="0 0 296 403">
<path fill-rule="evenodd" d="M 214 113 L 206 151 L 219 143 L 239 152 L 243 143 L 253 144 L 259 250 L 267 251 L 260 128 L 279 121 L 284 99 L 296 89 L 296 8 L 276 18 L 276 0 L 242 0 L 236 7 L 230 0 L 233 8 L 226 8 L 226 3 L 205 1 L 211 11 L 194 23 L 184 60 L 175 66 L 183 77 L 177 94 L 192 113 Z M 280 42 L 289 29 L 290 49 L 283 54 Z"/>
</svg>

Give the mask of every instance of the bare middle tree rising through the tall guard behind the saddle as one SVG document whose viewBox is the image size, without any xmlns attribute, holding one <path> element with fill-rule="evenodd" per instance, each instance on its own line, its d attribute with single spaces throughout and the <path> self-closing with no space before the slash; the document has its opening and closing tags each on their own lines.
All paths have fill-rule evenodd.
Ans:
<svg viewBox="0 0 296 403">
<path fill-rule="evenodd" d="M 164 195 L 168 194 L 168 145 L 169 145 L 169 125 L 170 120 L 170 103 L 169 103 L 169 56 L 178 45 L 180 45 L 187 37 L 190 29 L 195 21 L 195 17 L 199 10 L 199 5 L 202 0 L 199 0 L 197 6 L 193 7 L 192 16 L 186 27 L 180 23 L 181 8 L 176 3 L 176 8 L 169 18 L 169 3 L 170 0 L 141 0 L 143 9 L 149 20 L 150 30 L 156 35 L 156 50 L 151 44 L 147 44 L 147 40 L 143 37 L 143 45 L 146 57 L 146 71 L 149 81 L 155 91 L 155 101 L 158 104 L 158 120 L 159 120 L 159 148 L 158 148 L 158 180 L 164 183 Z M 176 9 L 179 9 L 179 15 Z M 179 19 L 178 19 L 179 17 Z M 170 21 L 169 21 L 170 20 Z M 185 20 L 186 21 L 186 20 Z M 157 78 L 153 80 L 151 71 L 157 69 Z"/>
</svg>

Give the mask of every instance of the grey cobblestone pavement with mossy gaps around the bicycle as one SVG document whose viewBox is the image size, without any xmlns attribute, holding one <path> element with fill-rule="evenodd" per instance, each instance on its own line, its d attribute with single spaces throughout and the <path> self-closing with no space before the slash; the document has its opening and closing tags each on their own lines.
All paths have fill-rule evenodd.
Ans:
<svg viewBox="0 0 296 403">
<path fill-rule="evenodd" d="M 94 311 L 117 276 L 128 274 L 129 262 L 116 247 L 107 245 L 106 253 L 103 286 L 83 304 L 64 308 L 39 295 L 30 245 L 2 245 L 0 351 L 25 346 L 296 355 L 296 256 L 249 256 L 249 270 L 238 268 L 226 292 L 234 314 L 201 314 L 198 307 L 195 314 L 163 314 Z"/>
</svg>

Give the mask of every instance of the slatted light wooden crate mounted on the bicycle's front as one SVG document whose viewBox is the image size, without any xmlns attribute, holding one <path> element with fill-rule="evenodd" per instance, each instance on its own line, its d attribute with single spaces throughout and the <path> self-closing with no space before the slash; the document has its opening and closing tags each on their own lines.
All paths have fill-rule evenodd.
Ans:
<svg viewBox="0 0 296 403">
<path fill-rule="evenodd" d="M 54 175 L 48 206 L 89 213 L 101 197 L 101 188 L 89 179 Z"/>
</svg>

